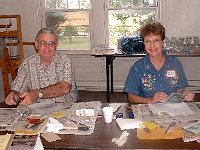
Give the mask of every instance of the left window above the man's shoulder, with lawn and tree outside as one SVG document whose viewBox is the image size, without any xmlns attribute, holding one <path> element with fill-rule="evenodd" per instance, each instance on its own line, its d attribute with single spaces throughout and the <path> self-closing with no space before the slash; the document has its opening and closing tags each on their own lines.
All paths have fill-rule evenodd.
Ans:
<svg viewBox="0 0 200 150">
<path fill-rule="evenodd" d="M 59 50 L 90 49 L 90 0 L 46 0 L 46 26 L 59 37 Z"/>
</svg>

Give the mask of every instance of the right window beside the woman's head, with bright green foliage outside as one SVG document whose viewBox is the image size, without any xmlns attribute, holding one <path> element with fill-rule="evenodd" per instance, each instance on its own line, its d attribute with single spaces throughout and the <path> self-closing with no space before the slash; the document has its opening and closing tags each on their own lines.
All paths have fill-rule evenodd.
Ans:
<svg viewBox="0 0 200 150">
<path fill-rule="evenodd" d="M 109 0 L 109 45 L 123 36 L 138 35 L 145 22 L 155 20 L 156 0 Z"/>
</svg>

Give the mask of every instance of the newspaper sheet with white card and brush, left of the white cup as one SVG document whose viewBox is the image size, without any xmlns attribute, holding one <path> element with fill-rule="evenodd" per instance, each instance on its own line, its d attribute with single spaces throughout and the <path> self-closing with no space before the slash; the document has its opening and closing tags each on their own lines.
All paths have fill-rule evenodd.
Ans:
<svg viewBox="0 0 200 150">
<path fill-rule="evenodd" d="M 84 110 L 84 113 L 80 115 L 82 110 Z M 86 110 L 92 113 L 88 113 Z M 48 128 L 52 128 L 52 126 L 63 126 L 63 129 L 56 130 L 56 132 L 59 134 L 90 135 L 94 132 L 95 122 L 100 111 L 101 102 L 99 101 L 74 103 L 70 109 L 64 110 L 65 115 L 63 117 L 56 118 L 54 122 L 50 119 L 43 132 L 47 133 Z M 77 129 L 72 129 L 73 127 L 77 127 Z M 88 130 L 79 130 L 79 127 L 87 127 Z"/>
</svg>

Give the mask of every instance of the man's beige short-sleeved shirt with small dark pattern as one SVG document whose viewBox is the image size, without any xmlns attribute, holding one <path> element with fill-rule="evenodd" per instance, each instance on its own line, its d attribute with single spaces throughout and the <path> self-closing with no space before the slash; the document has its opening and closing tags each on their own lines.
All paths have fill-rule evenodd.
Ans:
<svg viewBox="0 0 200 150">
<path fill-rule="evenodd" d="M 65 53 L 56 52 L 51 64 L 46 67 L 41 63 L 39 54 L 35 53 L 27 57 L 20 65 L 17 77 L 11 85 L 11 90 L 26 92 L 44 88 L 61 81 L 72 84 L 71 91 L 64 96 L 52 98 L 52 100 L 75 102 L 77 100 L 77 91 L 75 83 L 72 81 L 70 58 Z"/>
</svg>

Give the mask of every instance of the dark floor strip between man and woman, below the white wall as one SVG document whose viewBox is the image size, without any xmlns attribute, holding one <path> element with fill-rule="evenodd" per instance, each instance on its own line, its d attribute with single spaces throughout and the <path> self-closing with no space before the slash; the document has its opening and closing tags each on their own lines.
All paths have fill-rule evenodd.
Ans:
<svg viewBox="0 0 200 150">
<path fill-rule="evenodd" d="M 88 102 L 88 101 L 101 101 L 102 103 L 107 102 L 106 91 L 78 91 L 80 101 Z M 113 92 L 110 95 L 111 103 L 126 103 L 127 102 L 127 94 L 124 92 Z"/>
</svg>

